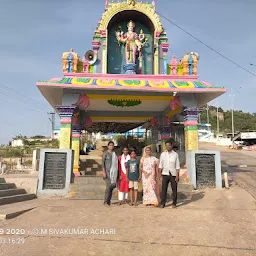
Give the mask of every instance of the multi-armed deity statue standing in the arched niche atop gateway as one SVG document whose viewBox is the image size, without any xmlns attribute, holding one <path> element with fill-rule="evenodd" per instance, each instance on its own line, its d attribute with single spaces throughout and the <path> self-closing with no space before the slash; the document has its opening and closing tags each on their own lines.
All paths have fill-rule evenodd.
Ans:
<svg viewBox="0 0 256 256">
<path fill-rule="evenodd" d="M 116 32 L 116 38 L 119 44 L 125 44 L 126 64 L 135 64 L 137 52 L 141 53 L 141 49 L 145 46 L 148 39 L 145 38 L 144 34 L 142 35 L 143 31 L 141 31 L 140 36 L 134 32 L 135 23 L 132 20 L 127 24 L 127 28 L 128 31 L 124 34 L 121 31 L 121 27 L 119 27 L 119 30 Z"/>
</svg>

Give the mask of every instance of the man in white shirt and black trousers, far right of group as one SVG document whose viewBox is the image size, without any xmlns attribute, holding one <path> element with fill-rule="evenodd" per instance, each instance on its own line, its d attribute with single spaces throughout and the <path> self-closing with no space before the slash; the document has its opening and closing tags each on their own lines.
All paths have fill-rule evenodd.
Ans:
<svg viewBox="0 0 256 256">
<path fill-rule="evenodd" d="M 173 204 L 176 208 L 177 204 L 177 185 L 179 182 L 180 161 L 178 154 L 173 151 L 173 141 L 168 140 L 165 143 L 166 151 L 160 156 L 158 175 L 162 176 L 162 198 L 160 208 L 164 208 L 166 204 L 167 189 L 169 182 L 172 187 Z"/>
</svg>

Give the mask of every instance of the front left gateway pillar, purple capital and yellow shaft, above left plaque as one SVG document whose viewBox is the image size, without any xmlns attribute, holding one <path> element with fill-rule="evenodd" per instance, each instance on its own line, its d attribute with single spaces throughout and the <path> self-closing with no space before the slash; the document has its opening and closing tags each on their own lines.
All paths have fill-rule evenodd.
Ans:
<svg viewBox="0 0 256 256">
<path fill-rule="evenodd" d="M 61 149 L 71 149 L 72 116 L 76 106 L 56 106 L 60 115 L 60 146 Z"/>
</svg>

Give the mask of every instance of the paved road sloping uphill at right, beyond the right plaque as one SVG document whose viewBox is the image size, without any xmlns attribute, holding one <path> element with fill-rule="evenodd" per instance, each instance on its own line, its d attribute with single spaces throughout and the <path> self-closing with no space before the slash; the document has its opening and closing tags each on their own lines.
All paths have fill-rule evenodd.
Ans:
<svg viewBox="0 0 256 256">
<path fill-rule="evenodd" d="M 200 149 L 220 150 L 231 183 L 246 189 L 256 199 L 256 151 L 227 149 L 211 143 L 201 143 Z M 236 167 L 242 165 L 247 167 Z"/>
</svg>

